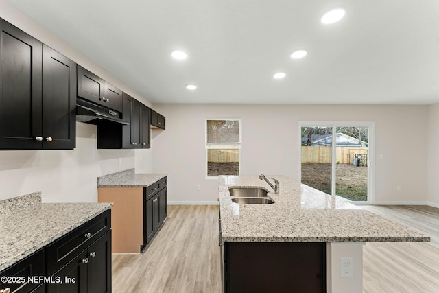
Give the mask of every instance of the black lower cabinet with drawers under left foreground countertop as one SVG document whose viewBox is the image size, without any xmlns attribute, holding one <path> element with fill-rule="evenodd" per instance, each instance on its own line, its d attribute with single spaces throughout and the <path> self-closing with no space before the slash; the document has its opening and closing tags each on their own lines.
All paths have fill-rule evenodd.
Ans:
<svg viewBox="0 0 439 293">
<path fill-rule="evenodd" d="M 0 276 L 21 277 L 25 282 L 17 282 L 16 279 L 11 279 L 12 283 L 0 282 L 0 290 L 10 288 L 10 292 L 17 293 L 110 293 L 110 222 L 108 210 L 3 270 Z M 78 235 L 83 238 L 80 242 Z M 28 277 L 37 278 L 29 281 Z"/>
</svg>

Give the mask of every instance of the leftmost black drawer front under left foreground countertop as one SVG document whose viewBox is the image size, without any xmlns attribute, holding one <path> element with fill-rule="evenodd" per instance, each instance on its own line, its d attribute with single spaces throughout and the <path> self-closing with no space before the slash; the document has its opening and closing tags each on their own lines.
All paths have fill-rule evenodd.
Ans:
<svg viewBox="0 0 439 293">
<path fill-rule="evenodd" d="M 10 292 L 31 292 L 38 286 L 38 283 L 27 283 L 27 277 L 44 276 L 44 249 L 36 251 L 10 268 L 3 270 L 0 272 L 0 276 L 11 277 L 11 283 L 0 281 L 0 290 L 10 288 Z M 19 281 L 15 278 L 19 278 Z M 17 290 L 22 285 L 23 287 Z"/>
</svg>

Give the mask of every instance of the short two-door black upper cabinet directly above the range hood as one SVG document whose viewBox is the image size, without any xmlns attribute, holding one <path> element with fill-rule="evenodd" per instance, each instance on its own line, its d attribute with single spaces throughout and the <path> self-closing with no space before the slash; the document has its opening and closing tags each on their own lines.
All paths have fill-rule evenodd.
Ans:
<svg viewBox="0 0 439 293">
<path fill-rule="evenodd" d="M 122 91 L 78 65 L 78 97 L 122 112 Z"/>
</svg>

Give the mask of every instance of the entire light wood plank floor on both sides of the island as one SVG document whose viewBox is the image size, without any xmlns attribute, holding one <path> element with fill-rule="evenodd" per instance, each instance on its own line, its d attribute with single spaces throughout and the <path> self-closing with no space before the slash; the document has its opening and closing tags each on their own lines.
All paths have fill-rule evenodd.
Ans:
<svg viewBox="0 0 439 293">
<path fill-rule="evenodd" d="M 364 292 L 439 292 L 439 209 L 364 208 L 436 239 L 368 242 Z M 217 206 L 169 206 L 163 228 L 142 255 L 112 255 L 112 292 L 221 292 L 218 230 Z"/>
</svg>

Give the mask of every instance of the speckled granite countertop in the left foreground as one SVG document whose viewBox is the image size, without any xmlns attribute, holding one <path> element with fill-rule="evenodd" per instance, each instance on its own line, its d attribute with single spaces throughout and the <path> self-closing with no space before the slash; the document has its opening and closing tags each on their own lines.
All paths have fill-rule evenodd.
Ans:
<svg viewBox="0 0 439 293">
<path fill-rule="evenodd" d="M 0 201 L 0 271 L 110 209 L 112 203 L 42 203 L 41 193 Z"/>
</svg>

